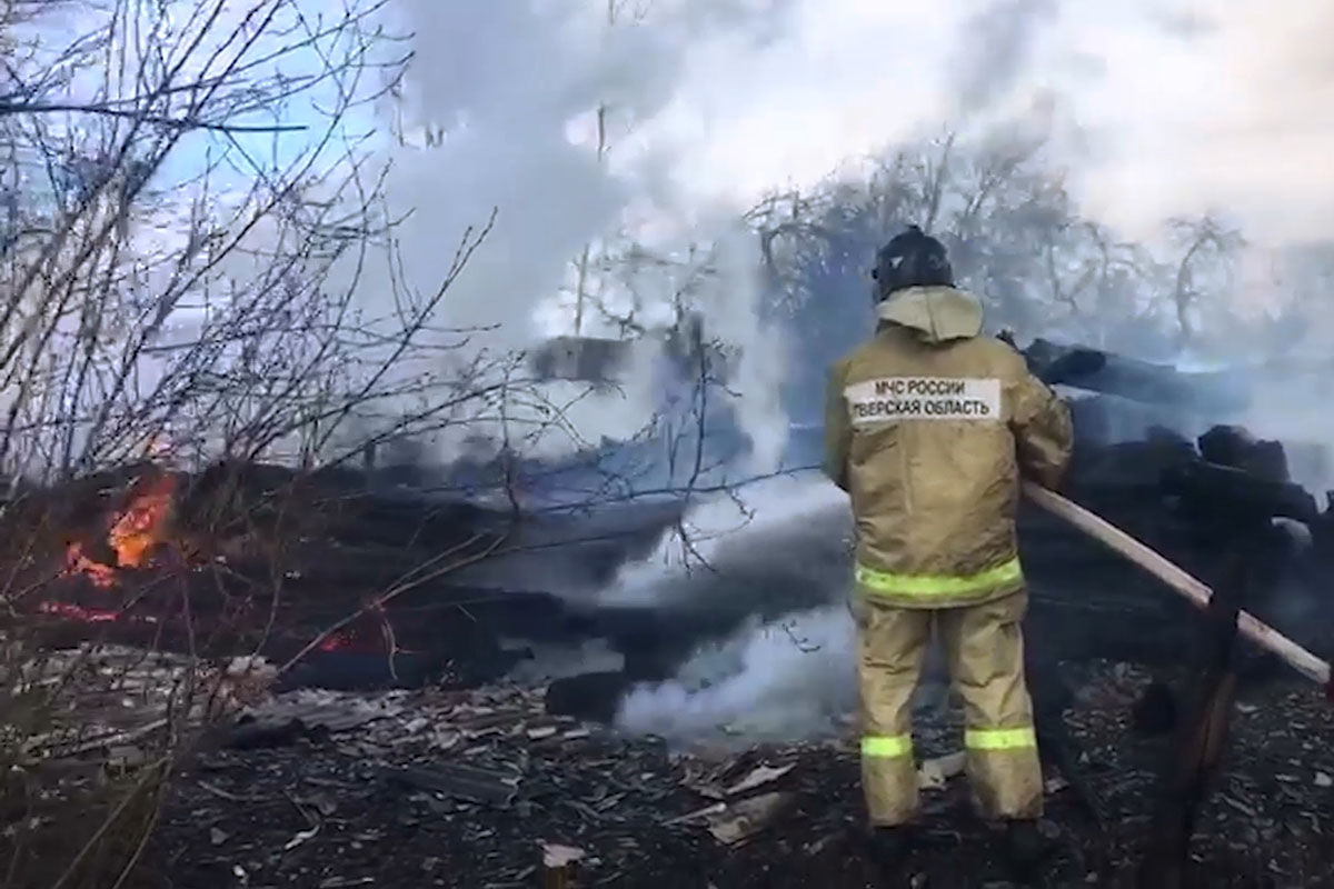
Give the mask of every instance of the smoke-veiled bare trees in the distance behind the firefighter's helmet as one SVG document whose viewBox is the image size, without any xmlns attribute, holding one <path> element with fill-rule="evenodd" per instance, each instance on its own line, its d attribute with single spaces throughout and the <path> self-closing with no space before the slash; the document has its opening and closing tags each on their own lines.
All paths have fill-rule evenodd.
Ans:
<svg viewBox="0 0 1334 889">
<path fill-rule="evenodd" d="M 1142 357 L 1179 348 L 1201 293 L 1231 285 L 1239 235 L 1217 220 L 1179 221 L 1174 231 L 1191 235 L 1185 255 L 1161 259 L 1083 216 L 1045 148 L 1011 131 L 946 133 L 890 149 L 863 179 L 774 195 L 751 211 L 768 299 L 802 331 L 796 367 L 814 371 L 798 375 L 792 411 L 811 415 L 827 361 L 866 335 L 870 257 L 910 223 L 946 244 L 994 327 Z"/>
</svg>

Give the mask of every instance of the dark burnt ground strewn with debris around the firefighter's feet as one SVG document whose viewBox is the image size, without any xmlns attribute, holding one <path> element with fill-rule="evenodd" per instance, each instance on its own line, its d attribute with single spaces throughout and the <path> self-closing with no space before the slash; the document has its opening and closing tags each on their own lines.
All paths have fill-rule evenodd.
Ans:
<svg viewBox="0 0 1334 889">
<path fill-rule="evenodd" d="M 1111 662 L 1078 673 L 1067 722 L 1106 826 L 1049 772 L 1055 852 L 1039 885 L 1133 885 L 1166 750 L 1131 726 L 1150 676 Z M 280 701 L 285 712 L 268 705 L 180 777 L 148 860 L 155 885 L 535 886 L 543 844 L 583 853 L 580 886 L 1010 885 L 962 778 L 924 793 L 910 873 L 878 882 L 850 740 L 670 752 L 548 716 L 542 689 Z M 1315 689 L 1243 690 L 1193 846 L 1197 885 L 1334 885 L 1331 729 Z M 920 726 L 924 754 L 951 752 L 954 730 Z"/>
</svg>

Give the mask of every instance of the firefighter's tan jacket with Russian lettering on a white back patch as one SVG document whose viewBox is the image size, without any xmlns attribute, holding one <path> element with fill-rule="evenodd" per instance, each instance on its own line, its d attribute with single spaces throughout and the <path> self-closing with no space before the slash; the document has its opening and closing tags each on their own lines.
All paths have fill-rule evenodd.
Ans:
<svg viewBox="0 0 1334 889">
<path fill-rule="evenodd" d="M 982 305 L 950 287 L 899 291 L 875 337 L 838 361 L 824 470 L 852 500 L 856 580 L 904 608 L 950 608 L 1023 588 L 1019 477 L 1055 486 L 1070 411 Z"/>
</svg>

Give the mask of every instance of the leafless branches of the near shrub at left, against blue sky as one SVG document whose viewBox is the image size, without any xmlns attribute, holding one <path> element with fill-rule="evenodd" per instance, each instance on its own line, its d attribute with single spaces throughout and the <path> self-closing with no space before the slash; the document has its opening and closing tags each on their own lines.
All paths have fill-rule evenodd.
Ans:
<svg viewBox="0 0 1334 889">
<path fill-rule="evenodd" d="M 335 17 L 293 0 L 69 4 L 89 31 L 56 51 L 41 15 L 8 29 L 12 477 L 87 473 L 164 441 L 195 458 L 339 460 L 359 436 L 494 420 L 522 385 L 439 312 L 487 220 L 432 289 L 396 273 L 395 292 L 359 293 L 368 263 L 402 265 L 351 123 L 406 60 L 383 3 Z M 299 100 L 320 111 L 297 115 Z"/>
</svg>

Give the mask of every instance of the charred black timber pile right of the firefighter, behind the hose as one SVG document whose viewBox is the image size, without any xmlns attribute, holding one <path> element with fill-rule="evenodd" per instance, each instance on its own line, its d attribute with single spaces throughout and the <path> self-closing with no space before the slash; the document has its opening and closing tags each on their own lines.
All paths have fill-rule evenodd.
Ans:
<svg viewBox="0 0 1334 889">
<path fill-rule="evenodd" d="M 1225 581 L 1218 553 L 1243 540 L 1254 572 L 1246 609 L 1315 654 L 1331 653 L 1319 628 L 1334 621 L 1334 514 L 1291 481 L 1279 443 L 1215 427 L 1197 443 L 1157 429 L 1141 441 L 1077 446 L 1067 494 L 1210 585 Z M 1021 541 L 1031 633 L 1051 657 L 1170 662 L 1193 644 L 1190 606 L 1118 554 L 1031 506 L 1021 513 Z M 1094 613 L 1097 621 L 1070 620 Z"/>
</svg>

